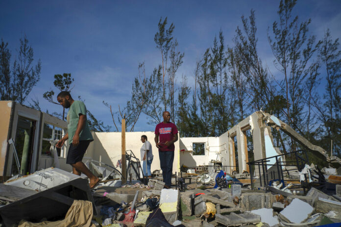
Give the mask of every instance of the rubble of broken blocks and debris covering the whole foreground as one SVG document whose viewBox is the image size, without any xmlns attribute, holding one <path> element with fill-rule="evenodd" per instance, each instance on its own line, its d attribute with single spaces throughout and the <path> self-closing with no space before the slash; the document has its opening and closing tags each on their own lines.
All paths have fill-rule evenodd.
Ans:
<svg viewBox="0 0 341 227">
<path fill-rule="evenodd" d="M 336 183 L 336 190 L 328 195 L 315 187 L 305 193 L 290 184 L 281 188 L 279 182 L 251 190 L 249 184 L 228 175 L 220 178 L 219 173 L 191 178 L 191 184 L 177 179 L 171 189 L 164 189 L 164 182 L 156 179 L 148 179 L 146 185 L 122 185 L 112 179 L 91 190 L 86 178 L 49 168 L 0 184 L 1 225 L 273 227 L 341 222 L 341 184 Z M 221 181 L 226 187 L 221 187 Z"/>
</svg>

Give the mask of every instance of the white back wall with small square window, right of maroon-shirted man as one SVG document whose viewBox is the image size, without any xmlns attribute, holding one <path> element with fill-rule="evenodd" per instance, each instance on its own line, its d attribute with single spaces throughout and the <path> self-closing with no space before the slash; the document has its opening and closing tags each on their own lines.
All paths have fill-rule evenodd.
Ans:
<svg viewBox="0 0 341 227">
<path fill-rule="evenodd" d="M 205 143 L 205 155 L 193 155 L 193 143 Z M 217 159 L 218 152 L 219 137 L 180 138 L 180 166 L 182 164 L 187 167 L 209 165 L 212 159 Z"/>
</svg>

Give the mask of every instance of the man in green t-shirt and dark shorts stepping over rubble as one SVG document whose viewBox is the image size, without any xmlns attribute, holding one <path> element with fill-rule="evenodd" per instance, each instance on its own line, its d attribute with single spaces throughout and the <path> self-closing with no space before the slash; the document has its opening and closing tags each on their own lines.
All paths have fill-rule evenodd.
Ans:
<svg viewBox="0 0 341 227">
<path fill-rule="evenodd" d="M 83 102 L 73 100 L 69 91 L 60 92 L 57 100 L 64 108 L 70 108 L 70 110 L 67 116 L 68 133 L 58 141 L 56 146 L 62 147 L 69 139 L 70 147 L 66 163 L 72 165 L 73 174 L 78 176 L 81 173 L 85 174 L 90 179 L 90 188 L 94 188 L 99 183 L 99 179 L 82 162 L 86 149 L 94 140 L 86 119 L 86 107 Z"/>
</svg>

